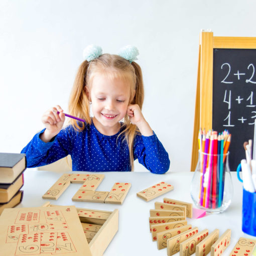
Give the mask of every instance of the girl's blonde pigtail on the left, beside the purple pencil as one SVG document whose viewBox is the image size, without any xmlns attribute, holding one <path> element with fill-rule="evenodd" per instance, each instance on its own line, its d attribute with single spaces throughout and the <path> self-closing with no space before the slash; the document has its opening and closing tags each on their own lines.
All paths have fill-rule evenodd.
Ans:
<svg viewBox="0 0 256 256">
<path fill-rule="evenodd" d="M 91 124 L 89 99 L 86 95 L 86 74 L 89 67 L 89 62 L 85 60 L 78 68 L 74 85 L 71 90 L 68 109 L 69 113 L 85 119 L 86 123 Z M 77 123 L 76 120 L 70 118 L 70 123 L 78 132 L 84 130 L 84 123 Z"/>
</svg>

